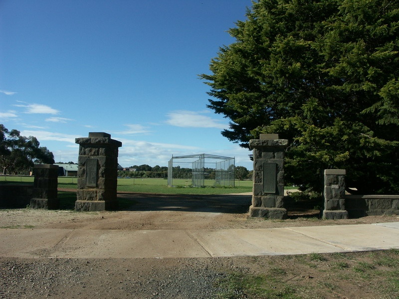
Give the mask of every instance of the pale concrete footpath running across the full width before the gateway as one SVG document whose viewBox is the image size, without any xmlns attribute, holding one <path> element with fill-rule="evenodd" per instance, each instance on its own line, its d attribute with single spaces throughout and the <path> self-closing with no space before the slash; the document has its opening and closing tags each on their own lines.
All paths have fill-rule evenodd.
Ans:
<svg viewBox="0 0 399 299">
<path fill-rule="evenodd" d="M 399 222 L 221 230 L 0 229 L 0 257 L 202 258 L 399 248 Z"/>
</svg>

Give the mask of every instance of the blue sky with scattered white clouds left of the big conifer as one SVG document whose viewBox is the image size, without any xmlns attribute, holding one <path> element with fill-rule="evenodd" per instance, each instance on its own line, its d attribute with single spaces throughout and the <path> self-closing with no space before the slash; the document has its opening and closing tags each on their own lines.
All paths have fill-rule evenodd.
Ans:
<svg viewBox="0 0 399 299">
<path fill-rule="evenodd" d="M 0 123 L 35 136 L 57 161 L 75 138 L 106 132 L 122 166 L 167 166 L 172 155 L 250 151 L 222 137 L 206 108 L 226 32 L 250 0 L 0 0 Z"/>
</svg>

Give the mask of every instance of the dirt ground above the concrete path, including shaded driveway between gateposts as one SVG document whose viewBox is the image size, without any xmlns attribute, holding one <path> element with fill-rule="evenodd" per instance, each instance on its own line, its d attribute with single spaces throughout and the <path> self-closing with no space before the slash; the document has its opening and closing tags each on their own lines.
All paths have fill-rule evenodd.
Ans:
<svg viewBox="0 0 399 299">
<path fill-rule="evenodd" d="M 250 195 L 155 195 L 120 193 L 124 211 L 0 210 L 0 227 L 85 229 L 239 229 L 397 222 L 398 215 L 323 220 L 318 210 L 289 211 L 286 220 L 251 218 Z"/>
</svg>

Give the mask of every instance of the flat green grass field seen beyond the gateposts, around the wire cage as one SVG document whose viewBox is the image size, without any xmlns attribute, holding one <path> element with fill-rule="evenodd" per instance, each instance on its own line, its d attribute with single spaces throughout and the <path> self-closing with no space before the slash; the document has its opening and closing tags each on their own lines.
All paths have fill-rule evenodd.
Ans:
<svg viewBox="0 0 399 299">
<path fill-rule="evenodd" d="M 33 183 L 33 176 L 0 176 L 0 183 Z M 205 180 L 205 187 L 191 186 L 191 180 L 174 179 L 169 187 L 162 178 L 118 178 L 118 191 L 158 194 L 227 194 L 252 191 L 252 181 L 235 181 L 234 187 L 214 187 L 214 180 Z M 76 189 L 77 177 L 58 177 L 58 188 Z"/>
</svg>

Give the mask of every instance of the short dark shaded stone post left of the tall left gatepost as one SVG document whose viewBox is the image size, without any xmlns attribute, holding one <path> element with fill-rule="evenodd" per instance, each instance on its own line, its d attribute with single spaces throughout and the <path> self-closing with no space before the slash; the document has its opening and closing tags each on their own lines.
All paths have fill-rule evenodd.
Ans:
<svg viewBox="0 0 399 299">
<path fill-rule="evenodd" d="M 59 208 L 57 198 L 58 165 L 37 164 L 33 168 L 33 198 L 30 199 L 32 209 Z"/>
</svg>

